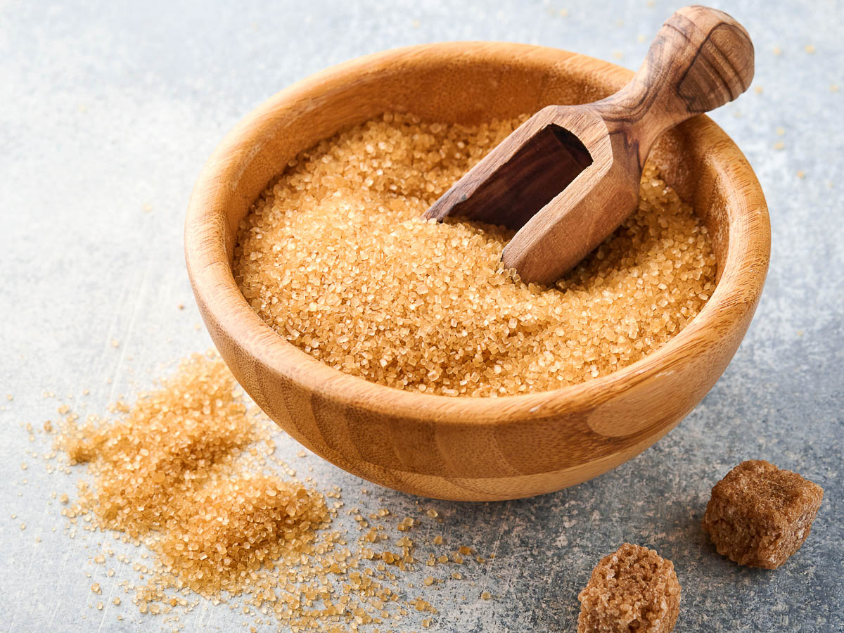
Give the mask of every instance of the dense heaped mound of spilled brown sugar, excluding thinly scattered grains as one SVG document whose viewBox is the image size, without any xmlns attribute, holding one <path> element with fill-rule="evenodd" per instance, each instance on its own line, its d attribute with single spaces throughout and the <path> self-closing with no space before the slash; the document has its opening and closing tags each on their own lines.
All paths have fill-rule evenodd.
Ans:
<svg viewBox="0 0 844 633">
<path fill-rule="evenodd" d="M 311 547 L 329 520 L 325 500 L 237 462 L 262 438 L 235 390 L 222 361 L 197 354 L 160 389 L 118 406 L 111 424 L 69 425 L 62 446 L 95 479 L 62 513 L 90 511 L 101 527 L 148 539 L 177 585 L 203 595 L 239 594 L 264 561 Z"/>
</svg>

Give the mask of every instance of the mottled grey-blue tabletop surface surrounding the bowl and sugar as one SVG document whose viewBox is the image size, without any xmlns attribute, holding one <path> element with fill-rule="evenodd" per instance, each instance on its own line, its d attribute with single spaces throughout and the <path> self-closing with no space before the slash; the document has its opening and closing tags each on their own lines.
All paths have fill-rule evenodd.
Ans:
<svg viewBox="0 0 844 633">
<path fill-rule="evenodd" d="M 647 50 L 640 39 L 650 41 L 679 6 L 591 4 L 2 3 L 0 396 L 14 401 L 0 401 L 0 628 L 162 625 L 125 597 L 122 607 L 111 605 L 111 592 L 122 595 L 114 583 L 133 575 L 119 568 L 106 578 L 90 561 L 107 535 L 62 534 L 50 493 L 72 490 L 80 473 L 47 475 L 28 454 L 46 450 L 44 441 L 30 443 L 22 427 L 55 417 L 58 398 L 84 388 L 88 410 L 102 412 L 116 394 L 148 387 L 161 365 L 208 346 L 181 230 L 193 181 L 225 132 L 295 80 L 392 46 L 521 41 L 635 68 Z M 428 504 L 377 490 L 381 502 L 360 495 L 370 484 L 317 457 L 305 462 L 326 484 L 343 486 L 349 505 L 383 505 L 399 516 L 434 506 L 446 516 L 446 540 L 497 554 L 464 569 L 463 586 L 434 593 L 436 628 L 572 630 L 576 593 L 592 565 L 627 540 L 674 560 L 683 586 L 679 631 L 844 629 L 844 92 L 831 88 L 844 89 L 844 5 L 717 4 L 756 45 L 762 92 L 750 89 L 715 118 L 764 187 L 773 254 L 755 322 L 700 406 L 614 472 L 535 499 Z M 777 141 L 785 149 L 776 151 Z M 58 397 L 43 398 L 45 390 Z M 295 442 L 280 433 L 279 442 L 295 461 Z M 739 568 L 701 533 L 711 484 L 750 457 L 798 470 L 826 490 L 808 542 L 777 571 Z M 88 573 L 103 585 L 102 597 L 89 591 Z M 409 577 L 427 574 L 423 566 Z M 494 599 L 480 601 L 483 589 Z M 100 599 L 102 612 L 91 607 Z M 181 624 L 240 630 L 244 619 L 221 606 L 197 609 Z M 418 626 L 409 620 L 403 628 Z"/>
</svg>

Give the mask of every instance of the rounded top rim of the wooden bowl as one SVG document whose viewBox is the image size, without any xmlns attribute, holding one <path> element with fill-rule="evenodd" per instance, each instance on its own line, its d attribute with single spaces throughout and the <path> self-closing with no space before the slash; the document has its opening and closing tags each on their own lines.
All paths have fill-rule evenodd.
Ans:
<svg viewBox="0 0 844 633">
<path fill-rule="evenodd" d="M 717 344 L 758 302 L 770 259 L 771 227 L 760 183 L 744 154 L 708 116 L 685 122 L 695 133 L 713 137 L 718 152 L 729 152 L 730 160 L 709 161 L 731 183 L 737 202 L 727 208 L 727 253 L 720 280 L 703 309 L 666 344 L 636 362 L 592 380 L 550 391 L 487 397 L 455 397 L 405 391 L 387 387 L 333 369 L 298 349 L 276 333 L 249 306 L 235 283 L 225 248 L 223 210 L 209 203 L 215 195 L 230 193 L 232 187 L 221 175 L 242 162 L 235 149 L 260 124 L 272 119 L 284 104 L 306 100 L 333 86 L 349 84 L 349 78 L 390 67 L 397 62 L 407 68 L 414 59 L 463 58 L 490 55 L 506 62 L 514 55 L 535 57 L 538 62 L 571 61 L 616 78 L 629 78 L 630 70 L 610 62 L 571 51 L 490 41 L 454 41 L 404 46 L 356 57 L 301 79 L 257 106 L 238 122 L 208 158 L 193 187 L 185 219 L 185 257 L 197 303 L 203 308 L 206 326 L 225 333 L 236 347 L 252 356 L 277 376 L 284 376 L 308 392 L 345 407 L 408 419 L 426 419 L 437 424 L 487 425 L 514 422 L 536 415 L 565 414 L 592 408 L 631 386 L 647 381 L 684 362 L 690 347 L 708 349 Z M 240 167 L 240 173 L 246 167 Z M 728 205 L 729 207 L 729 205 Z M 222 271 L 220 267 L 222 266 Z M 226 274 L 225 271 L 228 271 Z M 207 314 L 206 314 L 207 311 Z M 208 322 L 211 319 L 212 322 Z M 700 351 L 698 351 L 700 353 Z"/>
</svg>

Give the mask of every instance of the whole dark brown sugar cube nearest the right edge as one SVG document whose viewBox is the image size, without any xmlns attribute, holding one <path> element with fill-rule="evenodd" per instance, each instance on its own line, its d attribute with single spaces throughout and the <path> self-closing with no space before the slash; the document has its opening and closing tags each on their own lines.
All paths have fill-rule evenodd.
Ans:
<svg viewBox="0 0 844 633">
<path fill-rule="evenodd" d="M 824 490 L 798 473 L 750 460 L 715 484 L 703 528 L 718 554 L 776 569 L 809 536 L 823 498 Z"/>
</svg>

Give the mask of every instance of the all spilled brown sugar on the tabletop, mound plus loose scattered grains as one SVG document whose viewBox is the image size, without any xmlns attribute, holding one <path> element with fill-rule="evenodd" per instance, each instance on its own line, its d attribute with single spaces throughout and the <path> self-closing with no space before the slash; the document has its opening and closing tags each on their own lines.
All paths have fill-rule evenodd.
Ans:
<svg viewBox="0 0 844 633">
<path fill-rule="evenodd" d="M 153 560 L 144 551 L 133 564 L 140 582 L 125 585 L 141 614 L 177 620 L 174 610 L 193 609 L 197 595 L 239 597 L 245 614 L 285 630 L 394 630 L 408 614 L 438 613 L 430 594 L 408 595 L 412 584 L 400 576 L 422 565 L 419 557 L 441 576 L 431 590 L 462 580 L 454 565 L 473 565 L 464 545 L 445 548 L 457 547 L 451 558 L 436 559 L 443 547 L 420 551 L 443 546 L 414 535 L 420 521 L 438 517 L 430 509 L 397 524 L 387 508 L 363 515 L 353 507 L 353 531 L 339 529 L 339 489 L 290 479 L 292 469 L 274 457 L 276 427 L 247 406 L 214 354 L 184 360 L 158 388 L 117 403 L 111 419 L 82 422 L 59 409 L 58 447 L 92 475 L 77 500 L 62 494 L 62 515 L 69 526 L 115 530 L 152 550 Z M 105 565 L 106 554 L 93 561 Z M 103 591 L 100 582 L 90 589 Z"/>
</svg>

